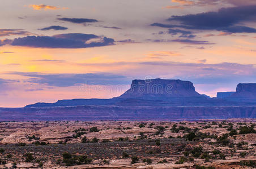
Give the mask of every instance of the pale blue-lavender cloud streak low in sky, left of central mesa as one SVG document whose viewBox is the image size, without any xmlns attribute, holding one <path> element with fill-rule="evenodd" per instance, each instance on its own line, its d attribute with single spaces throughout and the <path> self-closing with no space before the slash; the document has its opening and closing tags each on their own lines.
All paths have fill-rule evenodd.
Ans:
<svg viewBox="0 0 256 169">
<path fill-rule="evenodd" d="M 14 73 L 15 74 L 15 73 Z M 20 73 L 19 73 L 20 74 Z M 69 87 L 81 84 L 114 85 L 129 84 L 130 79 L 116 74 L 29 74 L 22 73 L 25 77 L 31 77 L 26 82 L 46 84 L 48 86 Z"/>
</svg>

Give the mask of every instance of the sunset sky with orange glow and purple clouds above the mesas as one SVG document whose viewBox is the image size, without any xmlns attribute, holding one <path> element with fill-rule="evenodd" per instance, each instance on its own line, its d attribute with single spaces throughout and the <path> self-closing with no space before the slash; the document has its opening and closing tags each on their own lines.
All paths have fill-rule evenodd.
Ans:
<svg viewBox="0 0 256 169">
<path fill-rule="evenodd" d="M 1 0 L 0 107 L 112 98 L 148 78 L 215 97 L 255 74 L 256 1 Z"/>
</svg>

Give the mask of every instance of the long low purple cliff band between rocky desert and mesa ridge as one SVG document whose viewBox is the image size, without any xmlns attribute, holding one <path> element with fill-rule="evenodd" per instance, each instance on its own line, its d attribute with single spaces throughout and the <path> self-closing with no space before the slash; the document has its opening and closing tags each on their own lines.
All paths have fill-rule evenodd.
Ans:
<svg viewBox="0 0 256 169">
<path fill-rule="evenodd" d="M 256 106 L 67 106 L 0 108 L 0 121 L 256 118 Z"/>
</svg>

